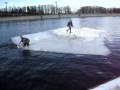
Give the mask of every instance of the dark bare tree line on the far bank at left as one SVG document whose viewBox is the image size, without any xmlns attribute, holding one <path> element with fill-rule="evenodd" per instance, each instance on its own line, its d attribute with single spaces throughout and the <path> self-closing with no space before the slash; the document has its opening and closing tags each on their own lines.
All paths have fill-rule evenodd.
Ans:
<svg viewBox="0 0 120 90">
<path fill-rule="evenodd" d="M 0 17 L 70 14 L 70 6 L 55 7 L 54 5 L 38 5 L 24 7 L 9 7 L 0 9 Z"/>
</svg>

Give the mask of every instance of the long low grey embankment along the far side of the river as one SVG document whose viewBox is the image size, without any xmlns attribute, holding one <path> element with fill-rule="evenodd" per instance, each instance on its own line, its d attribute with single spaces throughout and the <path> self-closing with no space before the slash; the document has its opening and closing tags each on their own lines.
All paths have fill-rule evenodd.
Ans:
<svg viewBox="0 0 120 90">
<path fill-rule="evenodd" d="M 61 14 L 61 15 L 38 15 L 38 16 L 19 16 L 19 17 L 3 17 L 0 22 L 4 21 L 18 21 L 18 20 L 42 20 L 50 18 L 85 18 L 85 17 L 115 17 L 120 14 Z"/>
</svg>

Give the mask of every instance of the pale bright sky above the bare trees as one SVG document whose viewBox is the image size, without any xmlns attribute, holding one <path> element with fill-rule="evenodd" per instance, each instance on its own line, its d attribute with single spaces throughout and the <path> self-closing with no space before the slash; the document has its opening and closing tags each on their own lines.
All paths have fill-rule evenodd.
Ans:
<svg viewBox="0 0 120 90">
<path fill-rule="evenodd" d="M 0 8 L 5 8 L 7 6 L 23 7 L 32 5 L 56 5 L 58 7 L 69 5 L 72 11 L 78 10 L 82 6 L 103 6 L 105 8 L 120 8 L 120 0 L 0 0 Z"/>
</svg>

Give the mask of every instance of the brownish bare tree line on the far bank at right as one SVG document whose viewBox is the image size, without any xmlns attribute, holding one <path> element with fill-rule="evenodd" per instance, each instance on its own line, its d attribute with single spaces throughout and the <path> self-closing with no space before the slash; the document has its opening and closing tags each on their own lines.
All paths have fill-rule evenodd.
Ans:
<svg viewBox="0 0 120 90">
<path fill-rule="evenodd" d="M 120 8 L 104 8 L 99 6 L 84 6 L 77 13 L 79 14 L 119 14 Z"/>
</svg>

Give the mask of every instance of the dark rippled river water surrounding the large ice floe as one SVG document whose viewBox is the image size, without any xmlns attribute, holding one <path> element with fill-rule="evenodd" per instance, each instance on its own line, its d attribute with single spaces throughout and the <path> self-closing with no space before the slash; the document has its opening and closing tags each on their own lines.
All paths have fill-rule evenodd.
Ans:
<svg viewBox="0 0 120 90">
<path fill-rule="evenodd" d="M 86 90 L 120 76 L 120 17 L 72 18 L 76 28 L 107 31 L 107 56 L 23 51 L 11 42 L 66 27 L 69 19 L 0 22 L 0 90 Z"/>
</svg>

